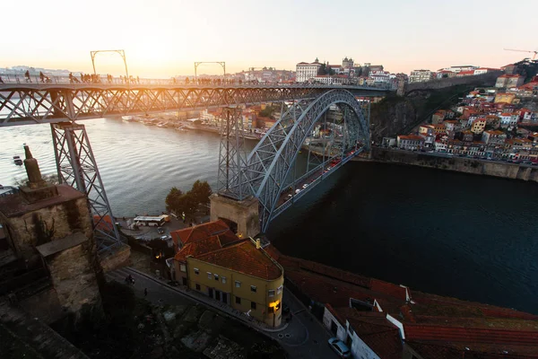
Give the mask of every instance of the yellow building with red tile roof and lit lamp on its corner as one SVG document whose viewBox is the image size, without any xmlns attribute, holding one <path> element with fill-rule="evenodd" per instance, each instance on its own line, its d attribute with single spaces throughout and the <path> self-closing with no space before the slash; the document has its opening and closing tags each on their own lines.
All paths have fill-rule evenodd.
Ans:
<svg viewBox="0 0 538 359">
<path fill-rule="evenodd" d="M 281 324 L 284 270 L 259 241 L 238 238 L 220 220 L 170 234 L 176 280 L 267 325 Z"/>
</svg>

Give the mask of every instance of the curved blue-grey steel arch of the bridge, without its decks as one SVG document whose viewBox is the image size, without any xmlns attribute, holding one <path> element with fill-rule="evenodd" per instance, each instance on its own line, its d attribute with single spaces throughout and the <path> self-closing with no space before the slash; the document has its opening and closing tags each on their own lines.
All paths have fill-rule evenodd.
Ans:
<svg viewBox="0 0 538 359">
<path fill-rule="evenodd" d="M 347 137 L 356 141 L 360 136 L 369 145 L 369 118 L 351 92 L 332 90 L 314 101 L 299 101 L 256 144 L 247 156 L 244 180 L 260 203 L 260 227 L 265 232 L 273 211 L 290 174 L 301 145 L 327 109 L 338 105 L 347 116 Z M 351 120 L 351 121 L 349 121 Z"/>
</svg>

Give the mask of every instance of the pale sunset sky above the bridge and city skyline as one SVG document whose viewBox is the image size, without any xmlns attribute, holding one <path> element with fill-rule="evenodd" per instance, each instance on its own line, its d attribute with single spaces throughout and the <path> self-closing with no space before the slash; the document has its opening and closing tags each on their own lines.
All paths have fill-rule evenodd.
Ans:
<svg viewBox="0 0 538 359">
<path fill-rule="evenodd" d="M 317 57 L 386 71 L 504 66 L 537 50 L 537 0 L 26 0 L 2 4 L 0 67 L 91 73 L 91 50 L 124 49 L 129 74 L 194 74 L 195 61 L 226 72 L 295 70 Z M 12 15 L 10 15 L 12 14 Z M 5 35 L 9 33 L 9 35 Z M 100 74 L 125 74 L 121 57 L 95 57 Z M 198 74 L 220 74 L 204 64 Z"/>
</svg>

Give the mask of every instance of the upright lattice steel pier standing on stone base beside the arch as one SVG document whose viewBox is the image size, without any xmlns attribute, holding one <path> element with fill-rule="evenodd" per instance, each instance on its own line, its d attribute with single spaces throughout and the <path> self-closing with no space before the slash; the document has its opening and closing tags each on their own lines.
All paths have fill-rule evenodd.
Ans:
<svg viewBox="0 0 538 359">
<path fill-rule="evenodd" d="M 242 109 L 227 107 L 221 115 L 221 147 L 219 149 L 219 195 L 242 201 L 250 196 L 245 186 L 245 153 Z"/>
</svg>

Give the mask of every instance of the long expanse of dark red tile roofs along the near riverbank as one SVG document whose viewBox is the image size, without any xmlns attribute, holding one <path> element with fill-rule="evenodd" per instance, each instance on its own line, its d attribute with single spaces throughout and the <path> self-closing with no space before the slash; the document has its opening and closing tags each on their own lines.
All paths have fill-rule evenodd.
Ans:
<svg viewBox="0 0 538 359">
<path fill-rule="evenodd" d="M 391 343 L 390 336 L 394 340 L 399 337 L 399 331 L 391 332 L 392 324 L 383 319 L 390 313 L 402 322 L 405 340 L 423 359 L 538 358 L 538 315 L 414 291 L 407 302 L 405 288 L 399 285 L 298 258 L 281 255 L 279 261 L 290 285 L 310 299 L 325 303 L 342 324 L 348 320 L 379 357 L 393 357 L 389 350 L 393 346 L 387 343 Z M 366 312 L 351 309 L 350 298 L 370 304 L 377 301 L 382 312 L 376 307 Z M 387 332 L 384 326 L 388 326 Z M 388 351 L 377 352 L 384 349 Z"/>
</svg>

